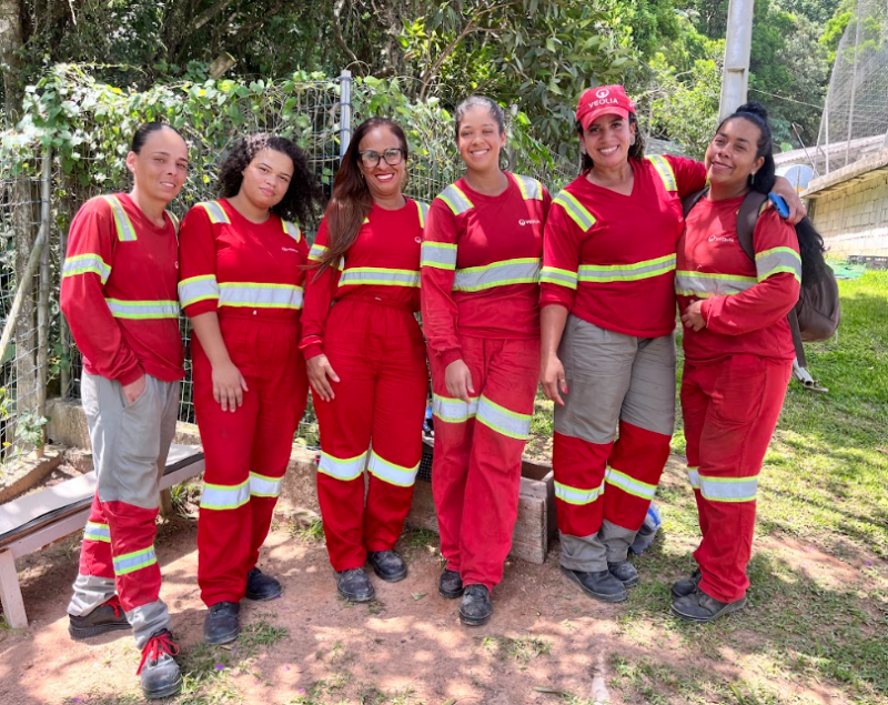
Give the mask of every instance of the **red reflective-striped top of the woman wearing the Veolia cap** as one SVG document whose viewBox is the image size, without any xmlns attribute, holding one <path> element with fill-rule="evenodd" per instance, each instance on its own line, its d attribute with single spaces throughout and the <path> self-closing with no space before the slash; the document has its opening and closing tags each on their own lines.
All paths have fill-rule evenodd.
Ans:
<svg viewBox="0 0 888 705">
<path fill-rule="evenodd" d="M 629 163 L 630 195 L 597 187 L 581 174 L 553 200 L 541 305 L 563 305 L 617 333 L 658 338 L 675 328 L 682 199 L 704 188 L 706 168 L 678 157 Z"/>
</svg>

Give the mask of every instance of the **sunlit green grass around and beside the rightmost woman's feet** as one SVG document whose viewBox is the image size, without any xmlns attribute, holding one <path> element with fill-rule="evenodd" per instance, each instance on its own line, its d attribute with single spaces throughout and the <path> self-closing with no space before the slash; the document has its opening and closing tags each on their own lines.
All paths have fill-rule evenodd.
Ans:
<svg viewBox="0 0 888 705">
<path fill-rule="evenodd" d="M 612 686 L 627 703 L 823 702 L 788 691 L 794 683 L 836 688 L 842 703 L 888 704 L 888 571 L 879 562 L 888 558 L 888 272 L 839 289 L 838 341 L 806 345 L 808 370 L 829 393 L 790 383 L 765 459 L 746 611 L 703 626 L 668 615 L 669 585 L 693 567 L 699 528 L 687 486 L 660 486 L 663 535 L 636 561 L 643 581 L 618 617 L 642 655 L 610 658 Z M 537 416 L 533 427 L 551 431 L 545 410 Z M 684 452 L 680 411 L 673 450 Z M 854 584 L 815 578 L 804 555 L 795 556 L 800 567 L 787 563 L 775 543 L 786 538 L 861 570 Z"/>
</svg>

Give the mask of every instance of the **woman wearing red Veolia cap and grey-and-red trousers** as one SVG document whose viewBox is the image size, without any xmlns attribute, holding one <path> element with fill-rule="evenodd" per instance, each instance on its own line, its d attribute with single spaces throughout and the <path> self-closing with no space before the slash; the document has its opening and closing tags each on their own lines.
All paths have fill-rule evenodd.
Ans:
<svg viewBox="0 0 888 705">
<path fill-rule="evenodd" d="M 562 571 L 619 602 L 638 583 L 627 553 L 669 455 L 682 198 L 704 188 L 706 168 L 645 158 L 622 85 L 587 90 L 576 118 L 583 173 L 546 223 L 541 375 L 556 403 Z"/>
</svg>

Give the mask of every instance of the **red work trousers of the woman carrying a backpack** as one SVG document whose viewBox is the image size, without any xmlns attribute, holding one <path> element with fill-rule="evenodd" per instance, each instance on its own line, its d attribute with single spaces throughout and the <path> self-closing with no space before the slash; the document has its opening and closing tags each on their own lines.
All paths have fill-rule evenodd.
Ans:
<svg viewBox="0 0 888 705">
<path fill-rule="evenodd" d="M 748 354 L 685 362 L 682 413 L 703 534 L 694 557 L 699 588 L 722 602 L 740 600 L 749 586 L 758 473 L 791 373 L 791 361 Z"/>
</svg>

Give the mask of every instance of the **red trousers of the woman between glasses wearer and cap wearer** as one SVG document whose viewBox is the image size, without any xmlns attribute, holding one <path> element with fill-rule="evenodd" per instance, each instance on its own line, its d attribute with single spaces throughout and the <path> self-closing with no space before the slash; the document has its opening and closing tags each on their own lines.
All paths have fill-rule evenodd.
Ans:
<svg viewBox="0 0 888 705">
<path fill-rule="evenodd" d="M 539 379 L 539 340 L 460 336 L 476 397 L 453 399 L 432 355 L 435 453 L 432 492 L 441 553 L 463 584 L 503 580 L 518 515 L 521 456 Z"/>
</svg>

